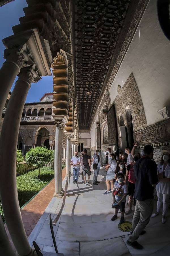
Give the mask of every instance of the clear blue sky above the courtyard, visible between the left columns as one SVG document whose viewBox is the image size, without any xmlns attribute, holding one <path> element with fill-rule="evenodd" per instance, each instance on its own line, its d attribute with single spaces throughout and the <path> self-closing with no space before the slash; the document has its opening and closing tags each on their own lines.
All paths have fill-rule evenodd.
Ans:
<svg viewBox="0 0 170 256">
<path fill-rule="evenodd" d="M 0 67 L 5 59 L 3 59 L 4 45 L 2 39 L 13 35 L 12 26 L 19 24 L 19 18 L 24 16 L 23 8 L 27 6 L 25 0 L 15 0 L 3 7 L 0 7 Z M 9 71 L 10 75 L 10 71 Z M 11 91 L 14 88 L 15 82 L 18 79 L 16 77 Z M 42 77 L 42 79 L 31 84 L 26 102 L 37 102 L 46 92 L 52 92 L 52 77 Z"/>
</svg>

